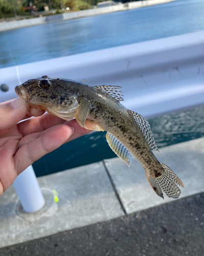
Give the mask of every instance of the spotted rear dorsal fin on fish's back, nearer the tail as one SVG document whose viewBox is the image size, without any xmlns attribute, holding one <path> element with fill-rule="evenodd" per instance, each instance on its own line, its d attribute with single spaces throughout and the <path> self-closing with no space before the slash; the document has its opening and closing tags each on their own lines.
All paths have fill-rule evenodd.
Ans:
<svg viewBox="0 0 204 256">
<path fill-rule="evenodd" d="M 150 148 L 152 148 L 152 150 L 158 151 L 157 144 L 156 144 L 155 139 L 151 133 L 150 124 L 148 123 L 146 118 L 144 118 L 143 116 L 141 116 L 140 114 L 138 114 L 132 110 L 129 110 L 129 112 L 131 113 L 131 115 L 134 117 L 135 121 L 139 125 L 140 130 L 142 131 L 142 134 L 144 135 L 145 139 L 147 140 Z"/>
</svg>

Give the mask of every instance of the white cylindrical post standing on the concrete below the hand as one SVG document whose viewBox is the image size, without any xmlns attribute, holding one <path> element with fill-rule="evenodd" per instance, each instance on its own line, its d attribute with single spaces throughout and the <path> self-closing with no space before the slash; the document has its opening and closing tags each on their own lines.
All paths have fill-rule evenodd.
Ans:
<svg viewBox="0 0 204 256">
<path fill-rule="evenodd" d="M 25 212 L 35 212 L 44 206 L 45 200 L 32 165 L 15 179 L 13 185 Z"/>
</svg>

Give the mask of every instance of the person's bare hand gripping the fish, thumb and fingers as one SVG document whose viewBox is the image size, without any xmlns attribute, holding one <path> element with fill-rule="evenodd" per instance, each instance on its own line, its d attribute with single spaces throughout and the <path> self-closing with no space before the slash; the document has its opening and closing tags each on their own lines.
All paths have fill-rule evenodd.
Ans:
<svg viewBox="0 0 204 256">
<path fill-rule="evenodd" d="M 28 111 L 21 98 L 0 103 L 0 120 L 0 196 L 33 162 L 90 132 L 75 119 L 44 114 L 39 106 Z"/>
</svg>

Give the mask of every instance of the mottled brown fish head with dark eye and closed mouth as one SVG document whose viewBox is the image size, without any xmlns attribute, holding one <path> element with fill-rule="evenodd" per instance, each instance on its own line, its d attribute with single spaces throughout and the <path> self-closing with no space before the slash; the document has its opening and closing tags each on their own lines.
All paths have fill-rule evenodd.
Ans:
<svg viewBox="0 0 204 256">
<path fill-rule="evenodd" d="M 42 76 L 41 78 L 30 79 L 20 84 L 20 86 L 16 86 L 15 92 L 29 106 L 40 105 L 42 109 L 50 114 L 61 118 L 66 116 L 66 120 L 70 120 L 77 111 L 79 103 L 77 95 L 70 92 L 67 84 L 69 83 L 66 79 Z M 72 118 L 70 116 L 68 118 L 68 115 L 66 115 L 68 113 L 71 113 Z"/>
</svg>

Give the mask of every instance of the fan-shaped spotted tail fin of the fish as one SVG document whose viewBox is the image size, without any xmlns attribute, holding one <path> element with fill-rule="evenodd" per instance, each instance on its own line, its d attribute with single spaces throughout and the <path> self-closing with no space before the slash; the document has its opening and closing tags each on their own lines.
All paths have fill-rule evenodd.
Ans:
<svg viewBox="0 0 204 256">
<path fill-rule="evenodd" d="M 155 190 L 157 195 L 163 199 L 164 196 L 162 190 L 169 198 L 179 198 L 181 195 L 181 190 L 177 185 L 180 185 L 184 188 L 183 182 L 166 164 L 161 163 L 161 165 L 164 169 L 164 172 L 158 174 L 157 177 L 151 177 L 146 172 L 146 177 L 149 184 Z"/>
</svg>

